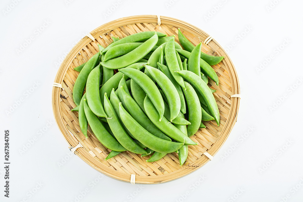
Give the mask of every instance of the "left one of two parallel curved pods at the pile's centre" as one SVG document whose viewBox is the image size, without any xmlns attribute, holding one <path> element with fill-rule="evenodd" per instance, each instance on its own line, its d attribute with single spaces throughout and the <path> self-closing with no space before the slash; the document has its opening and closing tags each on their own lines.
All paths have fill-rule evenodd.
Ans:
<svg viewBox="0 0 303 202">
<path fill-rule="evenodd" d="M 123 68 L 119 69 L 119 71 L 133 79 L 136 83 L 138 83 L 139 86 L 145 91 L 145 93 L 151 98 L 151 102 L 155 105 L 157 111 L 159 112 L 159 120 L 161 121 L 164 114 L 164 101 L 156 84 L 140 70 L 132 68 Z"/>
</svg>

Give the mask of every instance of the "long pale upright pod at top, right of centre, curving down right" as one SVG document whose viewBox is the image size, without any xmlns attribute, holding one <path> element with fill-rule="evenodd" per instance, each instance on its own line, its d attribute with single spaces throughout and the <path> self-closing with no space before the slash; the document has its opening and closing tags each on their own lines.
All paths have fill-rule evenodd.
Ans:
<svg viewBox="0 0 303 202">
<path fill-rule="evenodd" d="M 182 88 L 185 88 L 183 78 L 176 72 L 176 71 L 180 71 L 180 67 L 178 64 L 178 59 L 175 51 L 174 39 L 171 39 L 166 43 L 165 59 L 166 59 L 167 67 L 171 72 L 172 76 L 175 78 L 175 80 Z"/>
</svg>

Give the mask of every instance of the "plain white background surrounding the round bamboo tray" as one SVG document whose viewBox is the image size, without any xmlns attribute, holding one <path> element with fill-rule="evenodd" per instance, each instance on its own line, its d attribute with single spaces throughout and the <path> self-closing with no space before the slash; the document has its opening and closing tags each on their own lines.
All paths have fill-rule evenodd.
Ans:
<svg viewBox="0 0 303 202">
<path fill-rule="evenodd" d="M 121 0 L 112 13 L 108 9 L 116 0 L 13 2 L 0 3 L 0 201 L 303 200 L 302 1 Z M 76 155 L 68 156 L 53 116 L 51 92 L 62 59 L 85 34 L 117 18 L 147 14 L 177 18 L 213 36 L 235 65 L 242 98 L 238 121 L 213 161 L 175 181 L 131 185 L 100 174 Z M 30 43 L 19 52 L 26 41 Z M 264 68 L 257 71 L 260 63 Z M 16 109 L 7 114 L 13 105 Z M 9 198 L 3 192 L 6 129 Z"/>
</svg>

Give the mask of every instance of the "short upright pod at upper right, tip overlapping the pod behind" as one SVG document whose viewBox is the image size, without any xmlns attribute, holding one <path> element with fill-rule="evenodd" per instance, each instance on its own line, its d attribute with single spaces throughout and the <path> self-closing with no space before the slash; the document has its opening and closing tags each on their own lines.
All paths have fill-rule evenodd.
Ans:
<svg viewBox="0 0 303 202">
<path fill-rule="evenodd" d="M 200 55 L 201 55 L 201 45 L 200 42 L 194 49 L 192 49 L 191 54 L 188 58 L 188 67 L 187 70 L 197 74 L 201 77 L 201 69 L 200 69 Z"/>
</svg>

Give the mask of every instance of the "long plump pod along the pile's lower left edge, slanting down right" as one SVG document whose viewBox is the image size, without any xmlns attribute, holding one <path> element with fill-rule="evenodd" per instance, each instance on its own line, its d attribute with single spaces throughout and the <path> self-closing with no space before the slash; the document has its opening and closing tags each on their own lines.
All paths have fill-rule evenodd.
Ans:
<svg viewBox="0 0 303 202">
<path fill-rule="evenodd" d="M 105 129 L 98 117 L 89 109 L 86 99 L 84 99 L 84 111 L 89 126 L 94 132 L 96 138 L 105 147 L 114 151 L 126 151 L 126 149 Z"/>
</svg>

